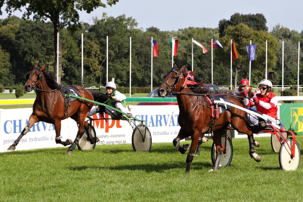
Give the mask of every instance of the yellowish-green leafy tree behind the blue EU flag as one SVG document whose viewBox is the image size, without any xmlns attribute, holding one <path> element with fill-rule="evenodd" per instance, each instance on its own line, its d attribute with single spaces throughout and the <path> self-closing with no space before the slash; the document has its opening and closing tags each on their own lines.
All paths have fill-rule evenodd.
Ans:
<svg viewBox="0 0 303 202">
<path fill-rule="evenodd" d="M 223 50 L 219 49 L 216 52 L 222 56 L 222 62 L 225 65 L 230 64 L 230 41 L 233 39 L 238 51 L 239 59 L 233 60 L 235 68 L 234 88 L 237 85 L 238 74 L 240 79 L 249 77 L 249 61 L 245 45 L 257 44 L 256 59 L 251 61 L 251 83 L 257 84 L 259 80 L 264 78 L 265 73 L 265 42 L 268 41 L 268 71 L 274 68 L 277 61 L 276 52 L 278 51 L 278 41 L 267 31 L 255 31 L 247 25 L 240 23 L 235 27 L 229 26 L 225 30 L 225 36 L 220 39 L 223 45 Z"/>
</svg>

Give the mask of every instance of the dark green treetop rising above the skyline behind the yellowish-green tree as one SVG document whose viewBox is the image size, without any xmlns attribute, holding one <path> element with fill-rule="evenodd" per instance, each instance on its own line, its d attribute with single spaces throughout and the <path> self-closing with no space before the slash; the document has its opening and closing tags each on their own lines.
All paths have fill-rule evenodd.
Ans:
<svg viewBox="0 0 303 202">
<path fill-rule="evenodd" d="M 225 35 L 224 31 L 228 26 L 235 27 L 236 25 L 243 23 L 247 25 L 249 28 L 252 28 L 256 31 L 261 30 L 268 30 L 268 27 L 266 27 L 266 18 L 263 14 L 257 13 L 257 14 L 240 14 L 235 13 L 234 15 L 230 16 L 230 20 L 222 19 L 219 22 L 219 34 L 220 38 Z"/>
</svg>

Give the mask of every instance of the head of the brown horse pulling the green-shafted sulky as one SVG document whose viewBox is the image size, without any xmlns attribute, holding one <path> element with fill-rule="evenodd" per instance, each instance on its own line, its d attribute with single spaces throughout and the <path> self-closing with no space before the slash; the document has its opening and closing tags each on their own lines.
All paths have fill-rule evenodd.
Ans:
<svg viewBox="0 0 303 202">
<path fill-rule="evenodd" d="M 24 85 L 25 91 L 31 92 L 32 88 L 37 88 L 41 84 L 43 77 L 42 70 L 44 68 L 45 65 L 43 65 L 42 67 L 34 65 L 33 69 L 25 75 L 25 78 L 27 79 Z"/>
</svg>

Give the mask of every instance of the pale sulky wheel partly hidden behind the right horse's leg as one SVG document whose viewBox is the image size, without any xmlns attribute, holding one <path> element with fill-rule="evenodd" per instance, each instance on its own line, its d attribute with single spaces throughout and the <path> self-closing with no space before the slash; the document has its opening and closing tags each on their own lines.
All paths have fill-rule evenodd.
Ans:
<svg viewBox="0 0 303 202">
<path fill-rule="evenodd" d="M 222 156 L 221 156 L 220 164 L 219 164 L 219 166 L 223 166 L 223 167 L 228 166 L 231 163 L 232 155 L 234 153 L 232 143 L 231 143 L 231 139 L 229 137 L 227 137 L 226 140 L 227 140 L 227 142 L 226 142 L 226 154 L 224 154 L 222 152 Z M 221 137 L 221 142 L 222 142 L 222 145 L 224 146 L 225 145 L 225 135 L 223 135 Z M 212 146 L 211 146 L 211 161 L 212 161 L 212 164 L 215 164 L 216 157 L 217 157 L 217 154 L 216 154 L 215 143 L 212 143 Z"/>
</svg>

